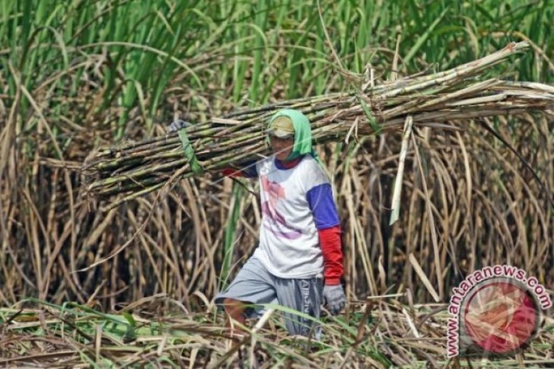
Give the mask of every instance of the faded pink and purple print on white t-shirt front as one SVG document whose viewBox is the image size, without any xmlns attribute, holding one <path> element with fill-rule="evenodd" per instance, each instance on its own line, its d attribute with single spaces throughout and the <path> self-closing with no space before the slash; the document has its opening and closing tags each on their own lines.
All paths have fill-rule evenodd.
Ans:
<svg viewBox="0 0 554 369">
<path fill-rule="evenodd" d="M 260 177 L 262 182 L 262 190 L 267 194 L 267 201 L 262 202 L 262 214 L 266 216 L 267 222 L 264 222 L 265 228 L 278 237 L 286 238 L 287 240 L 296 240 L 302 235 L 302 231 L 287 224 L 285 217 L 277 211 L 277 201 L 285 198 L 285 188 L 279 183 L 269 181 L 266 176 Z M 280 231 L 276 227 L 280 225 L 290 231 Z"/>
</svg>

